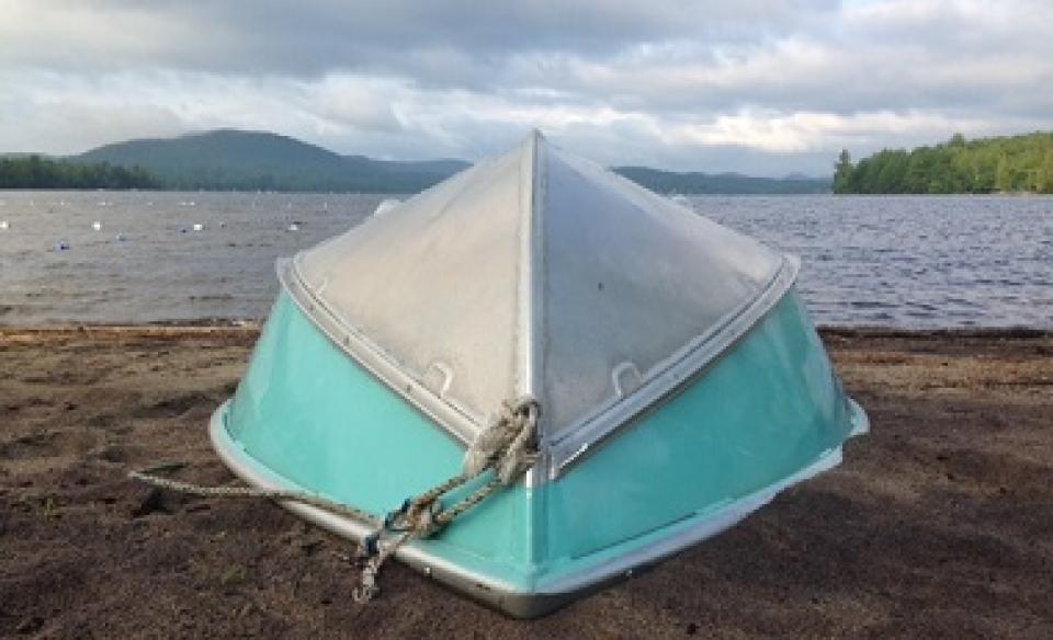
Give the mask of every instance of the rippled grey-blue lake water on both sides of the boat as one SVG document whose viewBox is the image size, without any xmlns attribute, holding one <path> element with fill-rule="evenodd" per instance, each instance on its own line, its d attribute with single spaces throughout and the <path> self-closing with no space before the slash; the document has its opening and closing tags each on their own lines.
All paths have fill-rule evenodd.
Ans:
<svg viewBox="0 0 1053 640">
<path fill-rule="evenodd" d="M 0 323 L 260 318 L 278 292 L 276 258 L 361 222 L 384 198 L 0 191 Z M 1053 328 L 1053 197 L 690 203 L 800 255 L 819 324 Z"/>
</svg>

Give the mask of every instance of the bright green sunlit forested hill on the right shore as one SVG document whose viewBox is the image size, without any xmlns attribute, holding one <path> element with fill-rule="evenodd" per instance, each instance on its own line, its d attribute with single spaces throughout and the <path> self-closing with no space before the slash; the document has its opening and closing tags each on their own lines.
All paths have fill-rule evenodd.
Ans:
<svg viewBox="0 0 1053 640">
<path fill-rule="evenodd" d="M 852 162 L 841 151 L 834 193 L 1053 193 L 1053 133 L 885 149 Z"/>
</svg>

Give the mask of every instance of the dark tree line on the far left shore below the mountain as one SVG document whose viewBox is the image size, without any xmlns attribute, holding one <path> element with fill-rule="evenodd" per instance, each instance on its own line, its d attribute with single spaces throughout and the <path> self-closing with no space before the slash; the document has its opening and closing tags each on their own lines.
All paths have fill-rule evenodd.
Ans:
<svg viewBox="0 0 1053 640">
<path fill-rule="evenodd" d="M 41 156 L 0 158 L 0 188 L 160 188 L 140 167 L 81 163 Z"/>
</svg>

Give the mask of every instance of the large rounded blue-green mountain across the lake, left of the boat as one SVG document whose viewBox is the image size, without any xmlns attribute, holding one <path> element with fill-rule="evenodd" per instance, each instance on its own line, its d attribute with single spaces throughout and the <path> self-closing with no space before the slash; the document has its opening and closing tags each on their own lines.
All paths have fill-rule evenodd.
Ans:
<svg viewBox="0 0 1053 640">
<path fill-rule="evenodd" d="M 140 167 L 166 187 L 186 190 L 414 193 L 468 167 L 461 160 L 341 156 L 286 136 L 234 129 L 116 142 L 70 159 Z"/>
</svg>

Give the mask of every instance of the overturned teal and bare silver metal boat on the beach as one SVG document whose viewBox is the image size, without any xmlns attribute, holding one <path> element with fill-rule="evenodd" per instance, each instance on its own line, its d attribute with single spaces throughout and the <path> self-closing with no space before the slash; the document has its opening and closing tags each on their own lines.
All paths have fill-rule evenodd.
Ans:
<svg viewBox="0 0 1053 640">
<path fill-rule="evenodd" d="M 867 430 L 794 290 L 795 259 L 541 134 L 386 209 L 279 263 L 212 438 L 249 483 L 348 505 L 284 503 L 375 544 L 377 522 L 461 473 L 525 399 L 509 485 L 392 547 L 508 614 L 720 533 Z M 466 477 L 433 515 L 495 473 Z"/>
</svg>

